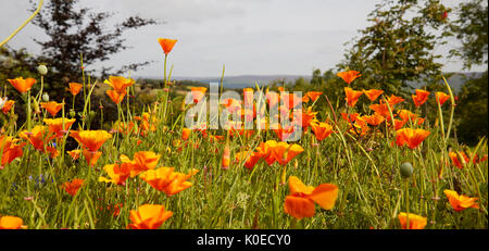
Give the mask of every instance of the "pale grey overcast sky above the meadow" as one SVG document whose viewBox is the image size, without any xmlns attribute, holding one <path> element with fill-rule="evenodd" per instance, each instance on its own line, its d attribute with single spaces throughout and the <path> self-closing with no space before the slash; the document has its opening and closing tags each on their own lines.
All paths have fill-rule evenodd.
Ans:
<svg viewBox="0 0 489 251">
<path fill-rule="evenodd" d="M 1 0 L 0 39 L 30 13 L 28 0 Z M 45 0 L 47 2 L 49 0 Z M 368 26 L 367 14 L 378 0 L 82 0 L 95 10 L 113 11 L 113 20 L 140 14 L 164 22 L 127 32 L 126 50 L 104 65 L 155 61 L 133 75 L 162 75 L 159 37 L 178 39 L 170 57 L 174 76 L 311 75 L 314 68 L 334 67 L 343 59 L 344 42 Z M 441 0 L 454 7 L 461 0 Z M 46 4 L 46 3 L 45 3 Z M 33 37 L 42 32 L 29 24 L 8 45 L 38 53 Z M 454 43 L 452 43 L 454 46 Z M 447 48 L 436 52 L 447 54 Z M 443 71 L 461 71 L 456 60 L 442 59 Z M 97 67 L 97 65 L 92 65 Z M 473 71 L 482 71 L 474 67 Z"/>
</svg>

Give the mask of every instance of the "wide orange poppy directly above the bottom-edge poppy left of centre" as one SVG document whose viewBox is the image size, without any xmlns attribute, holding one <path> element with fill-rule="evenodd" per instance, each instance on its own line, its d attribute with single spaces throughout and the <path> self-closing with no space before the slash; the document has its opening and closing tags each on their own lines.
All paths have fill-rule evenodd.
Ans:
<svg viewBox="0 0 489 251">
<path fill-rule="evenodd" d="M 148 170 L 140 174 L 139 177 L 147 181 L 151 187 L 159 191 L 166 193 L 166 196 L 174 196 L 192 186 L 187 181 L 191 176 L 199 173 L 193 168 L 188 174 L 174 172 L 173 167 L 160 167 L 158 170 Z"/>
</svg>

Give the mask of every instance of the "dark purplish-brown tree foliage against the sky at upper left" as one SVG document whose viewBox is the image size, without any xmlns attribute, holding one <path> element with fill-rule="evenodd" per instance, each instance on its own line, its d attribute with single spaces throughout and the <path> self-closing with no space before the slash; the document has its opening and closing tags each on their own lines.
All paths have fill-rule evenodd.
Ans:
<svg viewBox="0 0 489 251">
<path fill-rule="evenodd" d="M 33 20 L 33 24 L 48 36 L 47 40 L 34 38 L 41 47 L 38 60 L 71 80 L 79 75 L 82 54 L 86 65 L 106 61 L 111 55 L 129 48 L 122 37 L 125 30 L 156 24 L 154 20 L 129 16 L 109 28 L 106 24 L 113 13 L 78 8 L 77 3 L 78 0 L 51 0 Z M 149 62 L 131 63 L 116 71 L 102 66 L 99 73 L 108 75 L 112 71 L 113 74 L 122 74 L 147 64 Z"/>
</svg>

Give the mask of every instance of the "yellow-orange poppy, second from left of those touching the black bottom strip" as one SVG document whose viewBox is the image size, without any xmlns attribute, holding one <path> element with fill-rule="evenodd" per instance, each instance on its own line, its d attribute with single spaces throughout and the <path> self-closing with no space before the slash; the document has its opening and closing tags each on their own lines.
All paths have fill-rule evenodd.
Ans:
<svg viewBox="0 0 489 251">
<path fill-rule="evenodd" d="M 127 228 L 158 229 L 173 215 L 173 212 L 166 211 L 164 205 L 143 204 L 139 205 L 138 211 L 131 210 L 129 215 L 131 223 L 127 226 Z"/>
</svg>

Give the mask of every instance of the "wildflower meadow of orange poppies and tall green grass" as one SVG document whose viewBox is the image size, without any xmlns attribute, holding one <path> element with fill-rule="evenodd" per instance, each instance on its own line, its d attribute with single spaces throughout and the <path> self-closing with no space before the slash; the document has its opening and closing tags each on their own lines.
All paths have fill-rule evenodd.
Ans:
<svg viewBox="0 0 489 251">
<path fill-rule="evenodd" d="M 67 99 L 43 92 L 49 65 L 0 79 L 0 229 L 487 229 L 487 138 L 455 138 L 447 78 L 410 98 L 358 87 L 354 67 L 335 73 L 339 99 L 225 90 L 224 72 L 183 90 L 185 42 L 152 39 L 164 64 L 143 105 L 130 73 L 90 77 L 83 55 Z"/>
</svg>

